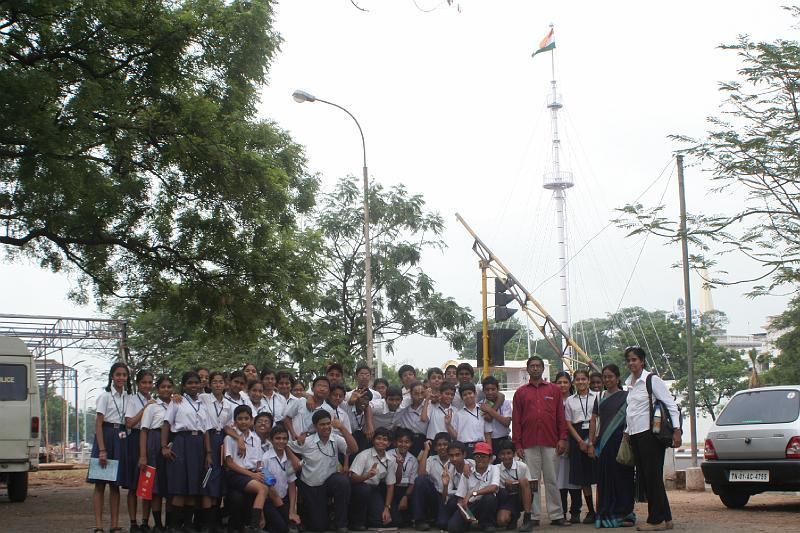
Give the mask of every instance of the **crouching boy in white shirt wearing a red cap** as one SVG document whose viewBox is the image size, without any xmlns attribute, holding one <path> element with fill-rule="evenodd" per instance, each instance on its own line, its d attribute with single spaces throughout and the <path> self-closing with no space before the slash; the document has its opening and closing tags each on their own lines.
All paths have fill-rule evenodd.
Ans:
<svg viewBox="0 0 800 533">
<path fill-rule="evenodd" d="M 466 399 L 465 402 L 466 404 Z M 500 474 L 492 465 L 492 445 L 478 442 L 473 453 L 475 468 L 469 475 L 461 477 L 456 490 L 459 505 L 469 508 L 477 518 L 481 529 L 493 529 L 497 520 L 497 489 Z M 456 510 L 447 522 L 448 533 L 464 533 L 470 526 L 460 510 Z"/>
</svg>

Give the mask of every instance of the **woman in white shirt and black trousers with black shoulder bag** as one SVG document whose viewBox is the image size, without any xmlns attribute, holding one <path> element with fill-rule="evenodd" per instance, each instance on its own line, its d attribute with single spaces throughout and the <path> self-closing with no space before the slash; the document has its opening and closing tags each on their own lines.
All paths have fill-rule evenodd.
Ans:
<svg viewBox="0 0 800 533">
<path fill-rule="evenodd" d="M 647 379 L 650 372 L 645 370 L 645 351 L 639 346 L 625 349 L 625 363 L 631 375 L 625 380 L 628 387 L 628 407 L 625 411 L 625 422 L 628 425 L 627 435 L 636 459 L 636 472 L 647 493 L 647 523 L 637 526 L 640 531 L 661 531 L 672 529 L 672 512 L 669 508 L 667 492 L 664 489 L 664 452 L 666 448 L 656 438 L 650 426 L 651 403 L 647 394 Z M 667 406 L 667 413 L 672 420 L 675 432 L 672 437 L 673 446 L 680 446 L 681 430 L 678 406 L 667 389 L 664 381 L 656 375 L 650 378 L 653 389 L 653 400 L 661 400 Z"/>
</svg>

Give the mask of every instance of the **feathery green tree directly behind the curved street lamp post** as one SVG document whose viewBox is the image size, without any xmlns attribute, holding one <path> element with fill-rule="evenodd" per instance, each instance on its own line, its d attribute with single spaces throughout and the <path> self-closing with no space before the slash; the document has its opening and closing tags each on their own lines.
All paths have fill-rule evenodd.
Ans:
<svg viewBox="0 0 800 533">
<path fill-rule="evenodd" d="M 319 307 L 297 316 L 292 353 L 301 366 L 336 360 L 349 370 L 364 358 L 362 209 L 362 192 L 352 177 L 339 180 L 321 198 L 314 225 L 324 239 L 324 274 Z M 373 184 L 369 209 L 376 343 L 391 353 L 400 338 L 443 335 L 461 348 L 469 338 L 472 315 L 437 291 L 420 265 L 424 251 L 445 246 L 442 217 L 426 211 L 422 196 L 402 185 L 384 189 Z"/>
</svg>

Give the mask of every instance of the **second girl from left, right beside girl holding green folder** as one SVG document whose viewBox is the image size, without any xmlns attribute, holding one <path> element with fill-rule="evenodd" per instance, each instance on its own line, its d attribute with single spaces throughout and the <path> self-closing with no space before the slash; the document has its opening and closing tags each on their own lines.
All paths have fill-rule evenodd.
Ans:
<svg viewBox="0 0 800 533">
<path fill-rule="evenodd" d="M 136 498 L 136 487 L 139 484 L 139 435 L 142 429 L 142 415 L 144 408 L 155 403 L 150 398 L 150 391 L 153 389 L 153 378 L 155 376 L 149 370 L 140 370 L 136 374 L 136 392 L 128 396 L 125 405 L 125 428 L 128 437 L 125 439 L 126 452 L 120 461 L 120 481 L 123 487 L 128 489 L 128 516 L 131 518 L 133 531 L 139 529 L 136 522 L 136 511 L 138 499 Z M 142 522 L 147 523 L 148 515 L 142 515 Z"/>
</svg>

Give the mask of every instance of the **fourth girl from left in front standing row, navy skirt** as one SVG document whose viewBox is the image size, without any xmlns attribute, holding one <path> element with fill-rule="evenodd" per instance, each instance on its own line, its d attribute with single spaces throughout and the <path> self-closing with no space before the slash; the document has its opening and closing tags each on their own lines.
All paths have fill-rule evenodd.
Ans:
<svg viewBox="0 0 800 533">
<path fill-rule="evenodd" d="M 173 529 L 191 524 L 192 505 L 200 507 L 203 476 L 213 464 L 206 432 L 211 423 L 198 398 L 200 377 L 197 372 L 183 374 L 181 391 L 183 400 L 170 402 L 161 426 L 161 453 L 167 460 L 167 488 L 174 510 L 173 523 L 167 527 Z M 203 508 L 210 509 L 210 502 L 202 500 Z M 204 516 L 204 521 L 207 518 Z"/>
</svg>

